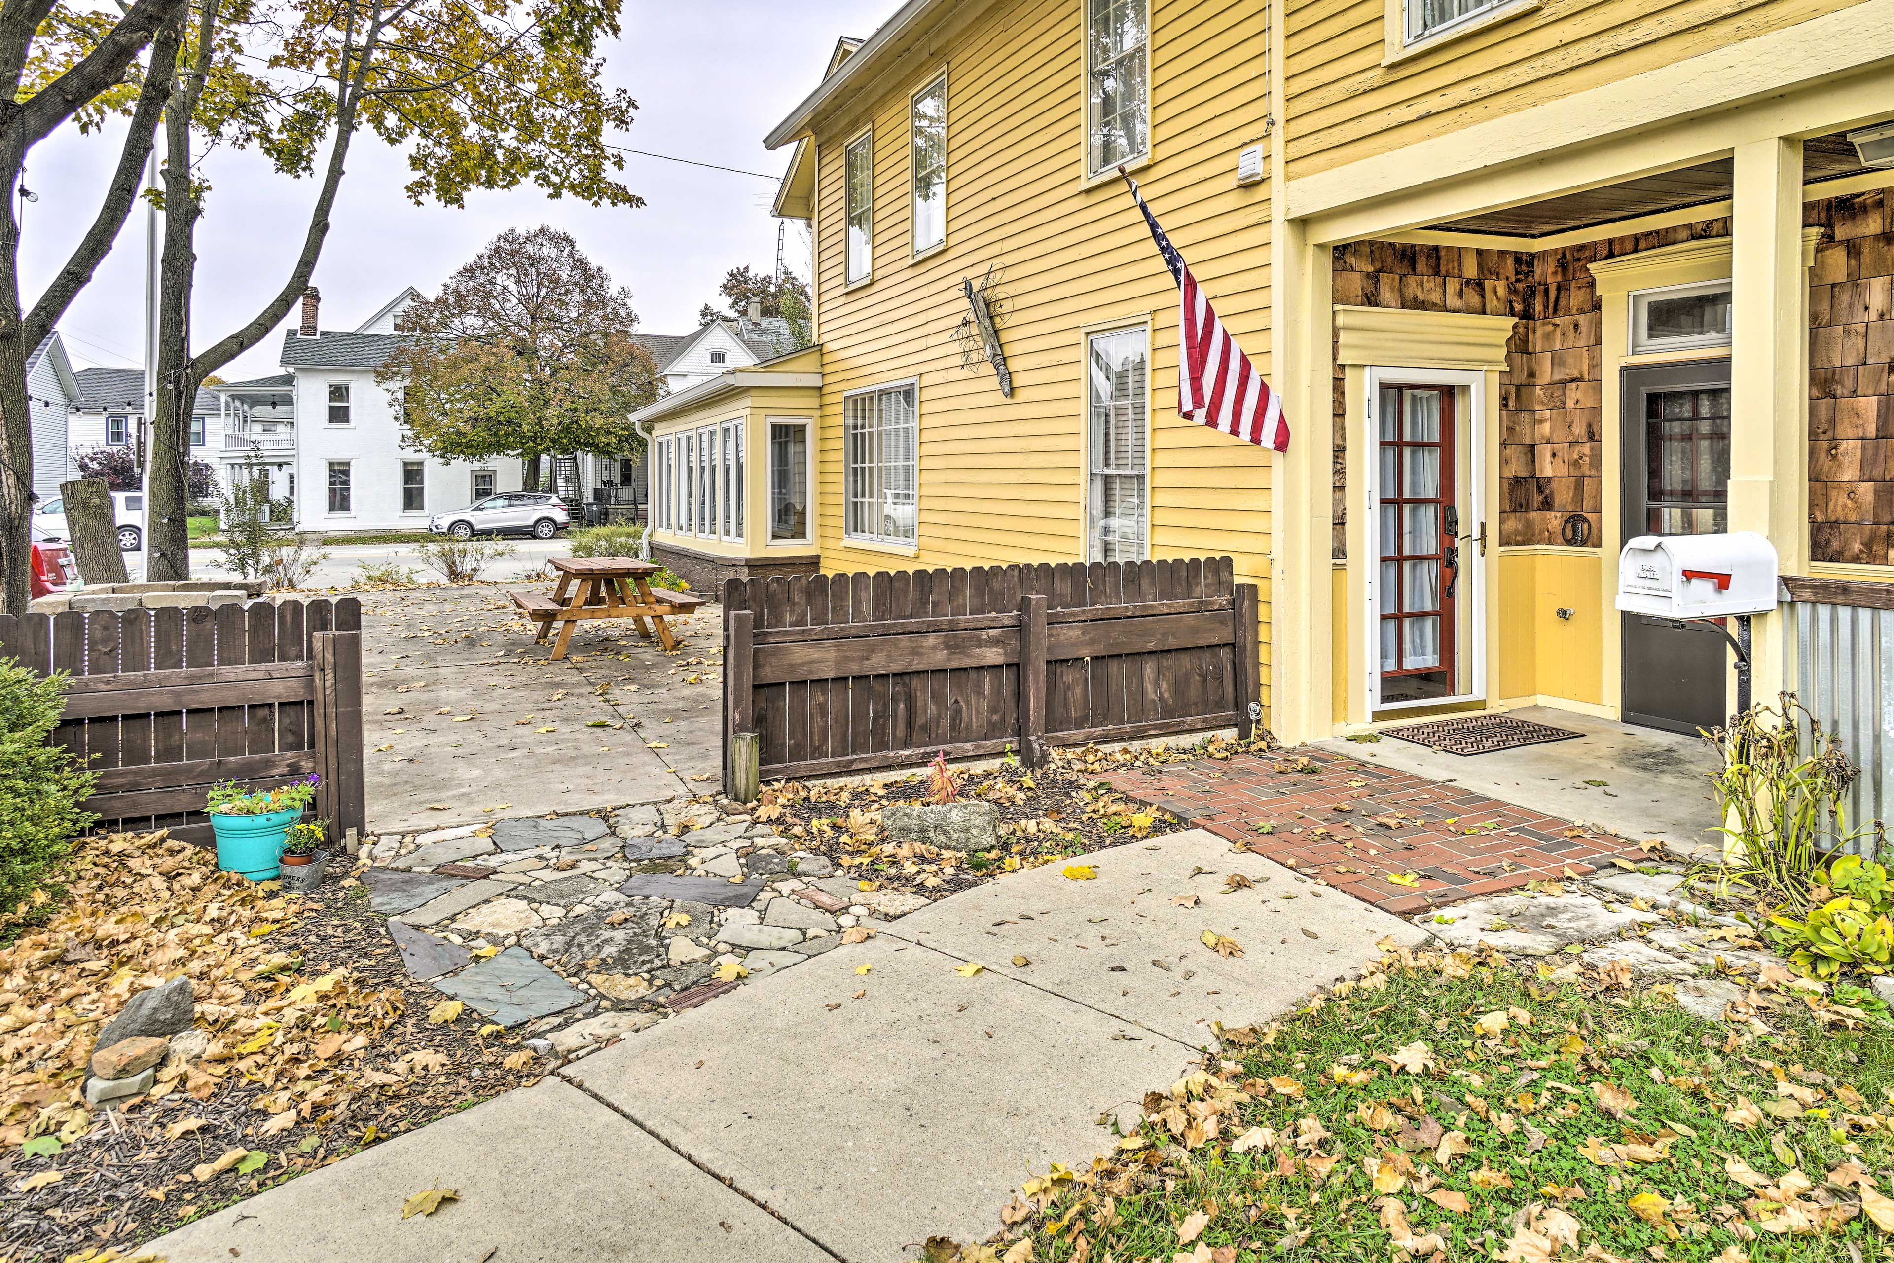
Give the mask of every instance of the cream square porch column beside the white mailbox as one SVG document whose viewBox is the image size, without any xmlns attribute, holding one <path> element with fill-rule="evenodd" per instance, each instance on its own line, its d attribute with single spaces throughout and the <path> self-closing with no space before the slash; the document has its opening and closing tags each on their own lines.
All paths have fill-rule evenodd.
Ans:
<svg viewBox="0 0 1894 1263">
<path fill-rule="evenodd" d="M 1801 140 L 1735 150 L 1729 345 L 1729 528 L 1769 538 L 1782 574 L 1809 566 L 1809 286 Z M 1756 701 L 1788 667 L 1786 615 L 1756 619 Z M 1735 695 L 1731 693 L 1731 704 Z"/>
</svg>

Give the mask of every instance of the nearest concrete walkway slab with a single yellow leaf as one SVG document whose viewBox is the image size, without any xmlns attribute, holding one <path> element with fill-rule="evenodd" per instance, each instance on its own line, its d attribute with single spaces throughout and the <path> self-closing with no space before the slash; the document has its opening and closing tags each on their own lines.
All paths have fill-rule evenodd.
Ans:
<svg viewBox="0 0 1894 1263">
<path fill-rule="evenodd" d="M 460 1199 L 402 1218 L 424 1189 Z M 559 1079 L 324 1166 L 140 1248 L 170 1263 L 831 1263 Z"/>
</svg>

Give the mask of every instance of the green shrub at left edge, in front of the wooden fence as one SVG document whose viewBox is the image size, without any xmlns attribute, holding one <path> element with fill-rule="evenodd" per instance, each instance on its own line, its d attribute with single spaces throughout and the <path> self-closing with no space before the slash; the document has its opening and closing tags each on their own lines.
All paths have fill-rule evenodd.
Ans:
<svg viewBox="0 0 1894 1263">
<path fill-rule="evenodd" d="M 72 837 L 97 820 L 80 809 L 95 778 L 49 740 L 64 693 L 64 676 L 0 659 L 0 932 L 30 915 L 27 905 Z"/>
</svg>

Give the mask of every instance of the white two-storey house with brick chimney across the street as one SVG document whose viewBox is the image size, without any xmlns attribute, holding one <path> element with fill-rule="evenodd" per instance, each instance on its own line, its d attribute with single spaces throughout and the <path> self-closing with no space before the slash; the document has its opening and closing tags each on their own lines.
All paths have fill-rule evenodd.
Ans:
<svg viewBox="0 0 1894 1263">
<path fill-rule="evenodd" d="M 511 458 L 436 460 L 402 445 L 400 400 L 375 369 L 400 343 L 409 286 L 348 331 L 320 328 L 322 295 L 303 295 L 301 324 L 284 333 L 273 377 L 216 386 L 223 398 L 225 468 L 250 454 L 271 492 L 295 506 L 297 530 L 422 530 L 428 517 L 496 490 L 519 490 Z"/>
</svg>

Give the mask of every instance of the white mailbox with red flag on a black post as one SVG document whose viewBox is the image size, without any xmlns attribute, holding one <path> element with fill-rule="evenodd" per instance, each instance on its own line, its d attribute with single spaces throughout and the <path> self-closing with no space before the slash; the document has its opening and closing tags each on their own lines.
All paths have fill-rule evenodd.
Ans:
<svg viewBox="0 0 1894 1263">
<path fill-rule="evenodd" d="M 1617 557 L 1617 608 L 1657 619 L 1716 619 L 1777 608 L 1775 545 L 1754 530 L 1638 536 Z"/>
</svg>

